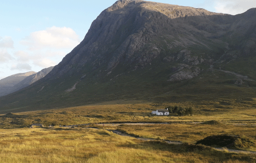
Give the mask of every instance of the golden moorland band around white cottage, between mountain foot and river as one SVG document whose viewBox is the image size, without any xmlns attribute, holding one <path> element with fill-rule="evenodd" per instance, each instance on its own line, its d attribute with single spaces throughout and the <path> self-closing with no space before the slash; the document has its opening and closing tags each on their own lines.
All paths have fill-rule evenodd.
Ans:
<svg viewBox="0 0 256 163">
<path fill-rule="evenodd" d="M 143 101 L 112 101 L 54 110 L 8 113 L 0 115 L 1 128 L 114 122 L 205 122 L 217 120 L 224 124 L 255 124 L 255 99 L 216 99 L 182 103 L 150 103 Z M 168 105 L 193 107 L 194 116 L 153 116 L 152 111 Z M 36 108 L 35 108 L 36 110 Z"/>
</svg>

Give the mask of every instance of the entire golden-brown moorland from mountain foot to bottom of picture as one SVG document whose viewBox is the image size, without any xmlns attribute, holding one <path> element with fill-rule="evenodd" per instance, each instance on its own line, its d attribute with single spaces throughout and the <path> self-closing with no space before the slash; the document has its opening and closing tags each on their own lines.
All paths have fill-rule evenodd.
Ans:
<svg viewBox="0 0 256 163">
<path fill-rule="evenodd" d="M 0 115 L 0 160 L 3 162 L 256 162 L 255 155 L 229 153 L 195 145 L 209 135 L 232 134 L 248 142 L 235 149 L 256 151 L 254 99 L 216 99 L 182 103 L 112 101 L 55 110 Z M 153 116 L 168 105 L 192 106 L 194 116 Z M 201 124 L 216 120 L 220 124 Z M 126 125 L 122 122 L 167 122 Z M 42 123 L 43 128 L 29 128 Z M 87 124 L 75 127 L 59 125 Z M 101 123 L 111 123 L 102 125 Z M 113 125 L 114 123 L 114 125 Z M 48 127 L 53 125 L 53 127 Z M 97 127 L 88 128 L 88 127 Z M 123 137 L 118 129 L 156 141 Z M 171 145 L 161 140 L 182 141 Z"/>
</svg>

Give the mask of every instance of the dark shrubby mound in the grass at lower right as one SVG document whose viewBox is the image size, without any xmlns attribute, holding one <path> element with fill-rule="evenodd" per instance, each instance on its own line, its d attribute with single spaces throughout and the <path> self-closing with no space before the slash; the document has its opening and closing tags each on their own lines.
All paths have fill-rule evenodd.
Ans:
<svg viewBox="0 0 256 163">
<path fill-rule="evenodd" d="M 211 135 L 198 141 L 196 144 L 203 144 L 206 146 L 227 147 L 232 149 L 254 149 L 256 144 L 248 138 L 240 137 L 239 135 Z"/>
</svg>

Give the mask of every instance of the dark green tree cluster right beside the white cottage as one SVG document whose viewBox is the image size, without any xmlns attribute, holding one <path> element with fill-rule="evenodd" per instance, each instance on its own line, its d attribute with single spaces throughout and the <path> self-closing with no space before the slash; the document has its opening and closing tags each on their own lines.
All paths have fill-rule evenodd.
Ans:
<svg viewBox="0 0 256 163">
<path fill-rule="evenodd" d="M 178 114 L 179 116 L 193 116 L 194 110 L 190 107 L 182 107 L 182 106 L 167 106 L 165 109 L 168 108 L 169 114 Z"/>
</svg>

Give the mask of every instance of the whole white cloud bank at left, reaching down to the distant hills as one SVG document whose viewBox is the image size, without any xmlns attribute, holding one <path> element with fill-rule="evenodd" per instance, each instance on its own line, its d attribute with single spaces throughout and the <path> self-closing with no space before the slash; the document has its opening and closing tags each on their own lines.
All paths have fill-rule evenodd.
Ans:
<svg viewBox="0 0 256 163">
<path fill-rule="evenodd" d="M 19 29 L 16 29 L 19 31 Z M 38 71 L 55 66 L 67 55 L 80 40 L 71 28 L 52 26 L 43 31 L 31 33 L 20 41 L 25 50 L 11 50 L 10 37 L 0 37 L 0 76 L 9 76 L 20 71 Z M 10 62 L 11 61 L 11 62 Z M 10 64 L 11 63 L 11 64 Z"/>
</svg>

